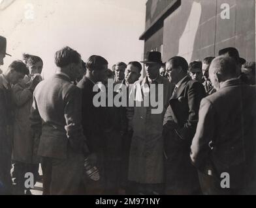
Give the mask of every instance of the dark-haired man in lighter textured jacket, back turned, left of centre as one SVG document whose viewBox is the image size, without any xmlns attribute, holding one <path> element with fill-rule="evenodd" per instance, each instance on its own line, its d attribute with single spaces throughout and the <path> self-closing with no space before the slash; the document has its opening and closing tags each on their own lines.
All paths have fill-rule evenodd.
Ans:
<svg viewBox="0 0 256 208">
<path fill-rule="evenodd" d="M 88 153 L 81 125 L 81 92 L 71 82 L 82 67 L 80 54 L 70 47 L 56 52 L 56 74 L 34 91 L 32 128 L 40 135 L 43 194 L 79 194 L 84 154 Z"/>
</svg>

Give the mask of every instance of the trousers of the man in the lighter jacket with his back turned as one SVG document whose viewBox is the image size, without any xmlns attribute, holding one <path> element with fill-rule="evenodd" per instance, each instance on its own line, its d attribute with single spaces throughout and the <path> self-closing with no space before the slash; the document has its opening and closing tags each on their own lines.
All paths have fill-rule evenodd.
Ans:
<svg viewBox="0 0 256 208">
<path fill-rule="evenodd" d="M 42 157 L 43 195 L 79 194 L 84 170 L 84 155 L 69 153 L 67 159 Z"/>
</svg>

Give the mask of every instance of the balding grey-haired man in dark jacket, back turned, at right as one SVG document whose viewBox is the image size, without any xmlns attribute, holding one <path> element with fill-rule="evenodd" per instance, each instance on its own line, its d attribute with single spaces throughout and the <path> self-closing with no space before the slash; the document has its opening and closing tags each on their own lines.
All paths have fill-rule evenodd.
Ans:
<svg viewBox="0 0 256 208">
<path fill-rule="evenodd" d="M 255 194 L 255 86 L 237 78 L 231 57 L 213 60 L 210 79 L 217 92 L 200 103 L 191 145 L 202 192 Z"/>
</svg>

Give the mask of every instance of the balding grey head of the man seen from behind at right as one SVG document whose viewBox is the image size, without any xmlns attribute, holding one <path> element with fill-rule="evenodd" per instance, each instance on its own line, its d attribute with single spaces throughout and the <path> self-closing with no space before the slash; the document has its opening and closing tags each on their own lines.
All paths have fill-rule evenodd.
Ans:
<svg viewBox="0 0 256 208">
<path fill-rule="evenodd" d="M 209 75 L 214 88 L 219 89 L 220 83 L 223 83 L 228 79 L 238 77 L 236 61 L 231 57 L 217 57 L 216 59 L 212 60 Z"/>
</svg>

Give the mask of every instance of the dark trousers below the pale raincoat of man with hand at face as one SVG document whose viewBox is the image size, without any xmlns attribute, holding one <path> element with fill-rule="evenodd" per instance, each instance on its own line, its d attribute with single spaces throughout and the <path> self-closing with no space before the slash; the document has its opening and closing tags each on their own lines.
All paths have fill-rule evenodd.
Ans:
<svg viewBox="0 0 256 208">
<path fill-rule="evenodd" d="M 13 166 L 14 170 L 12 172 L 12 178 L 16 183 L 14 186 L 13 194 L 23 195 L 25 190 L 31 189 L 30 184 L 29 187 L 25 187 L 26 179 L 30 179 L 30 175 L 27 176 L 25 174 L 33 174 L 33 185 L 35 185 L 37 179 L 39 178 L 39 164 L 29 164 L 25 162 L 14 161 Z"/>
</svg>

